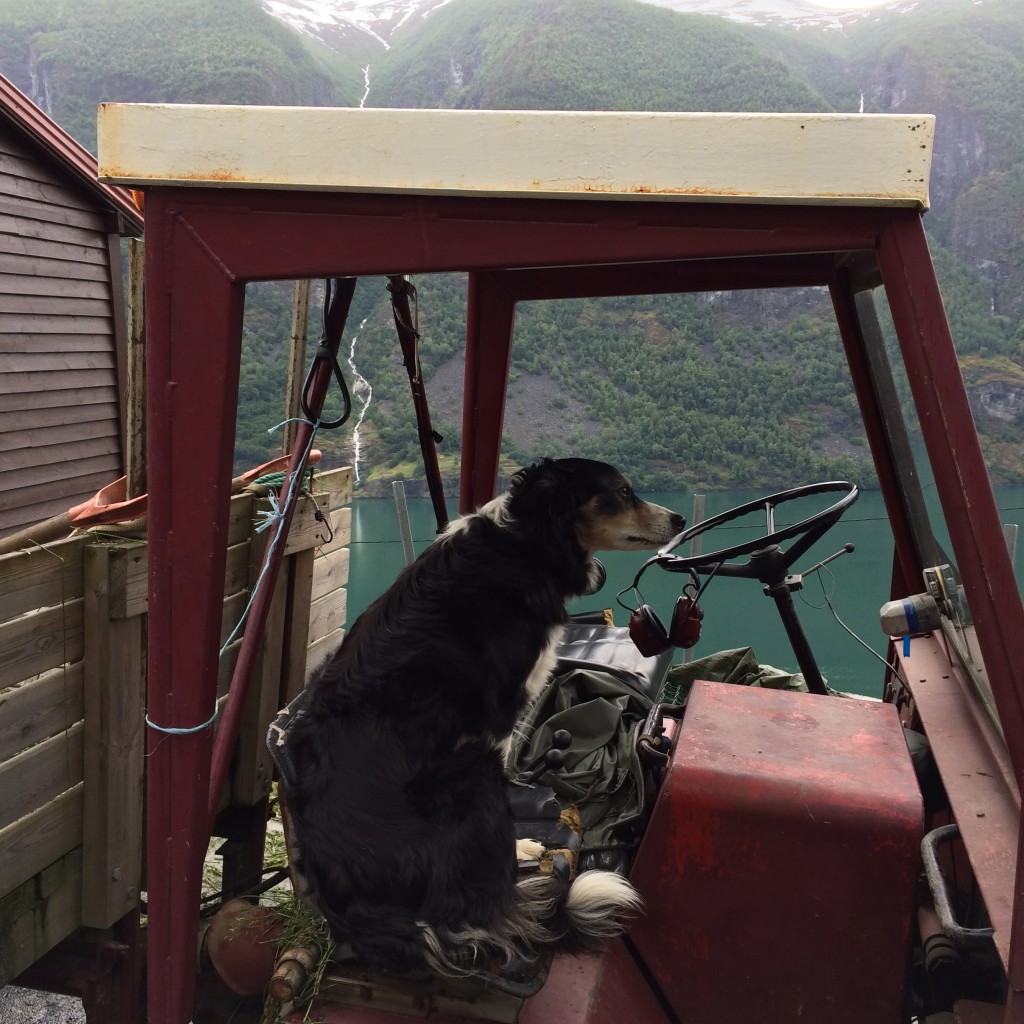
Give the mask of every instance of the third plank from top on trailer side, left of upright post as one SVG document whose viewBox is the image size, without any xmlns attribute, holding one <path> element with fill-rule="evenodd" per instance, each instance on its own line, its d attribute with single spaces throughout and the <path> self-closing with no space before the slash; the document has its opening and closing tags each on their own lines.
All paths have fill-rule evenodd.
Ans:
<svg viewBox="0 0 1024 1024">
<path fill-rule="evenodd" d="M 0 690 L 0 763 L 82 720 L 83 677 L 76 662 Z"/>
</svg>

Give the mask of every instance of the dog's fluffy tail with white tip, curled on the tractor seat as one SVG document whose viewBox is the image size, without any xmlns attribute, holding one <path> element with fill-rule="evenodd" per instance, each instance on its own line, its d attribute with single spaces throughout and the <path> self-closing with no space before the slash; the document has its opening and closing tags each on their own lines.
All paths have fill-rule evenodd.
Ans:
<svg viewBox="0 0 1024 1024">
<path fill-rule="evenodd" d="M 427 964 L 438 974 L 465 976 L 532 961 L 544 946 L 596 951 L 642 907 L 640 894 L 614 871 L 584 871 L 570 886 L 531 876 L 516 885 L 511 912 L 493 929 L 424 927 Z"/>
</svg>

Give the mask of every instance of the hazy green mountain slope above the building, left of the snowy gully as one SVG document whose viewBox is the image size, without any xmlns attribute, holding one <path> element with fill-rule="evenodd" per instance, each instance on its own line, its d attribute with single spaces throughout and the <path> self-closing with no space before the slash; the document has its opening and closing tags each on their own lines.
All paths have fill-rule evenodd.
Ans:
<svg viewBox="0 0 1024 1024">
<path fill-rule="evenodd" d="M 351 104 L 361 73 L 324 56 L 253 0 L 0 4 L 0 72 L 92 150 L 104 100 Z"/>
</svg>

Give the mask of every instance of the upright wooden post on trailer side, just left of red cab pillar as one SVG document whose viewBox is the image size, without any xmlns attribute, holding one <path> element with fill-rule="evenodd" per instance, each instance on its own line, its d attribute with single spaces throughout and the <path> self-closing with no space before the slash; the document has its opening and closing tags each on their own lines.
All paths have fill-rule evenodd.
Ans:
<svg viewBox="0 0 1024 1024">
<path fill-rule="evenodd" d="M 138 545 L 129 545 L 129 559 Z M 110 928 L 138 902 L 142 873 L 143 626 L 113 620 L 123 559 L 85 549 L 85 723 L 82 924 Z"/>
</svg>

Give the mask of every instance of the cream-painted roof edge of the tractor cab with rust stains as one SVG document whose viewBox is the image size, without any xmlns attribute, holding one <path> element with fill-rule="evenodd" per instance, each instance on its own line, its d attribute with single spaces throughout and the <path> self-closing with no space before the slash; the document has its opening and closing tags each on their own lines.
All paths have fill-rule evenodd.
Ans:
<svg viewBox="0 0 1024 1024">
<path fill-rule="evenodd" d="M 931 115 L 304 108 L 286 119 L 161 103 L 103 103 L 97 121 L 100 180 L 135 186 L 918 210 L 934 131 Z"/>
</svg>

